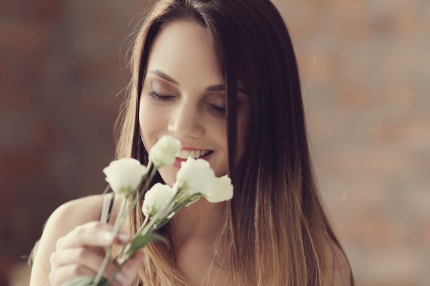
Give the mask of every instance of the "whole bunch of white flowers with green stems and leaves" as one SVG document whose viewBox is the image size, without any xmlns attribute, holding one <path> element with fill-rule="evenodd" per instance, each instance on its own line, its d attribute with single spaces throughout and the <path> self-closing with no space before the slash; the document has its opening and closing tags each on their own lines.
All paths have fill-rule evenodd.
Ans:
<svg viewBox="0 0 430 286">
<path fill-rule="evenodd" d="M 81 276 L 64 283 L 63 286 L 110 286 L 115 274 L 137 250 L 144 248 L 152 241 L 168 243 L 167 239 L 155 233 L 155 230 L 165 225 L 182 208 L 196 202 L 202 196 L 208 202 L 223 202 L 232 198 L 233 186 L 230 178 L 227 175 L 216 177 L 206 160 L 194 158 L 188 158 L 186 162 L 181 163 L 181 169 L 177 173 L 177 182 L 172 187 L 157 183 L 144 192 L 148 189 L 157 169 L 172 165 L 175 155 L 180 150 L 181 143 L 177 139 L 172 136 L 163 136 L 150 150 L 148 166 L 141 165 L 138 160 L 133 158 L 122 158 L 111 162 L 109 167 L 103 169 L 111 189 L 124 196 L 113 227 L 114 233 L 120 231 L 126 217 L 139 202 L 142 202 L 143 195 L 144 224 L 135 233 L 130 243 L 113 257 L 118 266 L 110 278 L 102 277 L 106 265 L 112 258 L 112 249 L 107 248 L 104 262 L 97 276 Z M 144 185 L 142 186 L 142 184 Z M 136 195 L 137 189 L 140 187 L 143 191 Z M 133 196 L 135 197 L 133 201 L 127 204 L 128 199 Z"/>
</svg>

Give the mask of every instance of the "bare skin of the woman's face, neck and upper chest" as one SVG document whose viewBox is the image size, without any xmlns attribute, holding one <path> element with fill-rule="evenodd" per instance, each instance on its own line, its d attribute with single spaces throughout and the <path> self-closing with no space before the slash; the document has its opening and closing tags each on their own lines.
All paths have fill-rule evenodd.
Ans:
<svg viewBox="0 0 430 286">
<path fill-rule="evenodd" d="M 174 49 L 172 49 L 174 47 Z M 159 33 L 148 60 L 139 108 L 139 125 L 146 150 L 169 134 L 183 150 L 206 151 L 203 159 L 216 176 L 227 174 L 227 126 L 223 76 L 205 29 L 192 22 L 171 23 Z M 249 104 L 238 94 L 238 158 L 245 148 Z M 181 160 L 159 171 L 172 185 Z M 170 223 L 179 269 L 196 285 L 229 285 L 229 272 L 212 263 L 215 237 L 223 218 L 224 203 L 204 199 L 183 209 Z M 227 255 L 218 248 L 221 261 Z M 228 262 L 227 262 L 228 263 Z M 208 273 L 208 270 L 212 269 Z"/>
</svg>

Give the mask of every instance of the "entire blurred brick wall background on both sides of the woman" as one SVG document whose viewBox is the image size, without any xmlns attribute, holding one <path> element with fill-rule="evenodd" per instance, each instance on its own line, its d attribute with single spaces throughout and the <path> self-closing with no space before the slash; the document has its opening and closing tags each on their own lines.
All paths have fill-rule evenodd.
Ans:
<svg viewBox="0 0 430 286">
<path fill-rule="evenodd" d="M 274 2 L 297 51 L 321 191 L 358 284 L 430 285 L 430 2 Z M 105 186 L 115 95 L 128 81 L 123 43 L 146 5 L 124 3 L 0 2 L 1 286 L 49 213 Z"/>
</svg>

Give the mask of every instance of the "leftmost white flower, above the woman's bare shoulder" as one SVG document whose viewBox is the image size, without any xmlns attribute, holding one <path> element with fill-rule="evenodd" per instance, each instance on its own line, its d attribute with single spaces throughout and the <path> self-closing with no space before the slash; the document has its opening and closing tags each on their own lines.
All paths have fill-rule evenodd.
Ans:
<svg viewBox="0 0 430 286">
<path fill-rule="evenodd" d="M 115 193 L 131 195 L 142 183 L 146 174 L 146 166 L 133 158 L 121 158 L 112 161 L 108 167 L 103 169 L 106 182 L 109 182 Z"/>
</svg>

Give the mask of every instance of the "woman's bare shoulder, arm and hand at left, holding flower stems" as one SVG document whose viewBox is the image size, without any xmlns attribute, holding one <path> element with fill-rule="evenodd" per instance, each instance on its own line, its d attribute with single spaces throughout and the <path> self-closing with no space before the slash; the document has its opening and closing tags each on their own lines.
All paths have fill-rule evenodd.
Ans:
<svg viewBox="0 0 430 286">
<path fill-rule="evenodd" d="M 115 198 L 114 222 L 122 198 Z M 98 222 L 102 210 L 102 195 L 73 200 L 63 204 L 49 217 L 39 242 L 32 266 L 30 286 L 57 286 L 76 276 L 95 276 L 104 252 L 96 247 L 124 245 L 130 239 L 125 233 L 113 236 L 113 225 Z M 128 261 L 113 285 L 131 285 L 143 260 L 138 252 Z M 113 273 L 111 263 L 105 276 Z"/>
</svg>

